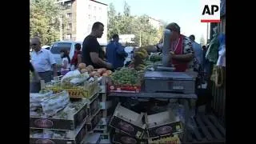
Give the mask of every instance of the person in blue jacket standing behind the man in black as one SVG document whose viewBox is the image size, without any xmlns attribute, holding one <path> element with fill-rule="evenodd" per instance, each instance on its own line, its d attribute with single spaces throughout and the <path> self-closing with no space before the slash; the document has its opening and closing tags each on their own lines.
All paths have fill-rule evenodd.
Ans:
<svg viewBox="0 0 256 144">
<path fill-rule="evenodd" d="M 122 48 L 119 41 L 118 34 L 114 34 L 112 40 L 106 46 L 106 62 L 110 62 L 113 65 L 114 70 L 124 66 L 124 61 L 128 54 Z"/>
</svg>

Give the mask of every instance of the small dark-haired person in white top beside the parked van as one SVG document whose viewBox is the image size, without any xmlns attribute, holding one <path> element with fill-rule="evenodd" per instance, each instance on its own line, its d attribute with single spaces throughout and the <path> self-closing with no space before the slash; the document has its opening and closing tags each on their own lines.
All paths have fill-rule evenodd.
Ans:
<svg viewBox="0 0 256 144">
<path fill-rule="evenodd" d="M 70 71 L 70 56 L 67 53 L 66 49 L 61 50 L 61 58 L 62 58 L 61 74 L 65 75 L 67 72 Z"/>
</svg>

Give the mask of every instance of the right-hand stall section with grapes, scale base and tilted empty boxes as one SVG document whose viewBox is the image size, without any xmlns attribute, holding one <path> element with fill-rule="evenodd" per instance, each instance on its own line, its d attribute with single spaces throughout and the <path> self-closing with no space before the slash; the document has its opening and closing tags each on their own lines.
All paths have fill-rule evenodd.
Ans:
<svg viewBox="0 0 256 144">
<path fill-rule="evenodd" d="M 219 125 L 213 115 L 193 114 L 195 102 L 198 98 L 194 94 L 197 74 L 194 72 L 168 73 L 164 70 L 154 71 L 160 59 L 158 54 L 151 54 L 151 62 L 147 61 L 146 58 L 144 50 L 136 50 L 130 68 L 116 70 L 110 76 L 107 96 L 117 98 L 120 102 L 110 120 L 110 126 L 114 128 L 114 137 L 111 138 L 113 142 L 225 142 L 225 129 Z M 161 75 L 161 77 L 149 77 L 150 74 Z M 164 110 L 154 112 L 154 114 L 147 114 L 147 110 L 150 110 L 150 108 L 143 111 L 136 110 L 136 108 L 143 107 L 143 104 L 138 104 L 136 108 L 130 106 L 133 105 L 130 100 L 143 103 L 145 100 L 150 101 L 152 99 L 153 103 L 158 99 L 160 101 L 167 100 L 172 108 L 164 108 Z M 179 104 L 182 104 L 182 106 Z M 183 118 L 182 115 L 184 115 Z M 190 121 L 194 122 L 192 127 L 188 126 L 191 123 Z"/>
</svg>

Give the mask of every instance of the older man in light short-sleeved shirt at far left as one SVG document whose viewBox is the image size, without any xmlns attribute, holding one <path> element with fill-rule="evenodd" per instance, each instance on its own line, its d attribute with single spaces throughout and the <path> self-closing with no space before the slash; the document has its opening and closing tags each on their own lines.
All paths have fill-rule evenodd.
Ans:
<svg viewBox="0 0 256 144">
<path fill-rule="evenodd" d="M 30 41 L 32 47 L 31 63 L 34 69 L 38 72 L 40 78 L 45 82 L 50 82 L 53 79 L 52 68 L 54 76 L 57 76 L 57 66 L 50 50 L 42 49 L 40 38 L 32 38 Z"/>
</svg>

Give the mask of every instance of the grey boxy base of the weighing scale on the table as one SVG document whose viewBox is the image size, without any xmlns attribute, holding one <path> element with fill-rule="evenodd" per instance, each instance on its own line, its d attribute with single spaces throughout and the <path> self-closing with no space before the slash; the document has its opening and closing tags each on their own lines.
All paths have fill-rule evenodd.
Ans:
<svg viewBox="0 0 256 144">
<path fill-rule="evenodd" d="M 186 72 L 146 71 L 145 92 L 194 94 L 195 78 Z"/>
</svg>

